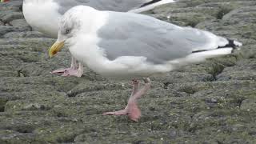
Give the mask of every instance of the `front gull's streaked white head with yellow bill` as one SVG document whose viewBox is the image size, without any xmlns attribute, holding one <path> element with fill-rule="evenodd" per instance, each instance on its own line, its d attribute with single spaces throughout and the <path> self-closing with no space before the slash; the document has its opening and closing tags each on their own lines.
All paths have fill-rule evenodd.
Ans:
<svg viewBox="0 0 256 144">
<path fill-rule="evenodd" d="M 59 23 L 58 39 L 53 46 L 50 47 L 50 57 L 58 53 L 62 49 L 66 42 L 70 42 L 72 38 L 84 32 L 90 30 L 90 20 L 92 12 L 95 12 L 94 8 L 90 6 L 74 6 L 62 16 Z M 85 27 L 85 30 L 82 30 Z"/>
</svg>

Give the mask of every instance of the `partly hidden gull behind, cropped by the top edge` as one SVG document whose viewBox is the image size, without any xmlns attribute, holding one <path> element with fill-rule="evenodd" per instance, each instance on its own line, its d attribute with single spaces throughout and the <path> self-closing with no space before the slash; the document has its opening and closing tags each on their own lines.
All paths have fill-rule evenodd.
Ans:
<svg viewBox="0 0 256 144">
<path fill-rule="evenodd" d="M 165 3 L 174 2 L 173 0 L 24 0 L 23 1 L 23 14 L 26 22 L 43 34 L 50 38 L 58 37 L 58 25 L 62 15 L 71 7 L 78 5 L 86 5 L 94 7 L 97 10 L 113 10 L 113 11 L 129 11 L 142 12 L 149 10 L 154 6 L 159 6 Z M 143 6 L 143 7 L 141 7 Z M 54 72 L 63 72 L 66 70 L 74 70 L 78 73 L 64 74 L 64 75 L 82 75 L 82 64 L 79 65 L 80 71 L 75 71 L 76 61 L 72 58 L 70 69 L 56 70 Z"/>
</svg>

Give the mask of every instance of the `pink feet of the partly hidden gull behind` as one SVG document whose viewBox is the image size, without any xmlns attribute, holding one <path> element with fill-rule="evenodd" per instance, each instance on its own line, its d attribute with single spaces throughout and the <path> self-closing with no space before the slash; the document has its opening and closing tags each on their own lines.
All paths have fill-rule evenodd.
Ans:
<svg viewBox="0 0 256 144">
<path fill-rule="evenodd" d="M 51 72 L 51 74 L 62 74 L 62 76 L 64 77 L 67 77 L 67 76 L 81 77 L 82 76 L 82 72 L 74 68 L 54 70 L 53 72 Z"/>
</svg>

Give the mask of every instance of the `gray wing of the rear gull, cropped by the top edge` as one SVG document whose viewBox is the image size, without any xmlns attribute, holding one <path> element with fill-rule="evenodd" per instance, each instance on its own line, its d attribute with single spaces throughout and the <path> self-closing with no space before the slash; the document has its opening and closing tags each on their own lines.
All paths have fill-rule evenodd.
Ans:
<svg viewBox="0 0 256 144">
<path fill-rule="evenodd" d="M 126 12 L 142 6 L 152 0 L 54 0 L 59 7 L 58 12 L 64 14 L 71 7 L 78 5 L 91 6 L 97 10 L 111 10 Z"/>
</svg>

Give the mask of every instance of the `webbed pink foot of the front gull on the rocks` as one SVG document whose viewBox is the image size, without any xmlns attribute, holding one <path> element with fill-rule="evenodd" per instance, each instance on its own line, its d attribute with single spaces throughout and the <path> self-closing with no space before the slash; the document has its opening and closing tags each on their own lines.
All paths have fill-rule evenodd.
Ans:
<svg viewBox="0 0 256 144">
<path fill-rule="evenodd" d="M 138 118 L 140 118 L 142 114 L 141 110 L 138 109 L 137 104 L 135 102 L 130 102 L 124 110 L 106 112 L 103 115 L 128 115 L 131 120 L 138 122 Z"/>
</svg>

